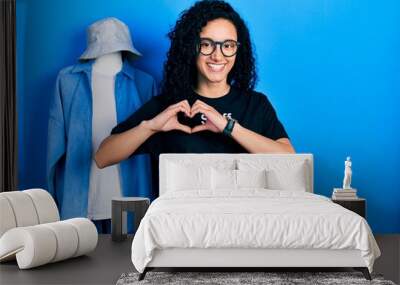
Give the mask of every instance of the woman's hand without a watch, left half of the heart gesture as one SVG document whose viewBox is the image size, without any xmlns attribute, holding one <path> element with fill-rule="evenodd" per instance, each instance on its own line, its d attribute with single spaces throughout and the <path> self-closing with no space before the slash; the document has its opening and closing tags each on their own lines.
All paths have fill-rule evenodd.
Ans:
<svg viewBox="0 0 400 285">
<path fill-rule="evenodd" d="M 168 132 L 172 130 L 181 130 L 190 134 L 191 128 L 182 125 L 178 121 L 178 113 L 183 112 L 186 116 L 190 117 L 190 105 L 188 100 L 182 100 L 176 104 L 170 105 L 160 114 L 148 121 L 148 125 L 152 131 Z"/>
</svg>

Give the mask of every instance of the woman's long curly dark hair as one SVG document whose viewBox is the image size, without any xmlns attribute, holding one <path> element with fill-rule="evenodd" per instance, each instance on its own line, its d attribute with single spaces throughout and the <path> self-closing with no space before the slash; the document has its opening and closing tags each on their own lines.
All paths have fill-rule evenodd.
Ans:
<svg viewBox="0 0 400 285">
<path fill-rule="evenodd" d="M 242 91 L 253 90 L 257 75 L 246 24 L 231 5 L 220 0 L 196 2 L 180 14 L 175 27 L 168 33 L 171 46 L 164 63 L 161 93 L 170 101 L 187 99 L 197 84 L 196 44 L 208 22 L 223 18 L 236 27 L 240 47 L 235 64 L 228 74 L 228 84 Z"/>
</svg>

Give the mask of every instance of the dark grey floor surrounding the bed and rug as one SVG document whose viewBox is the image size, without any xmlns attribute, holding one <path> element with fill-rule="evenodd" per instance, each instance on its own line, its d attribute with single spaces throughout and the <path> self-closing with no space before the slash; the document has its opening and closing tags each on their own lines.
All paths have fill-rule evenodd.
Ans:
<svg viewBox="0 0 400 285">
<path fill-rule="evenodd" d="M 400 234 L 377 235 L 382 256 L 374 272 L 400 283 Z M 132 237 L 115 243 L 109 235 L 100 235 L 96 250 L 88 256 L 19 270 L 16 262 L 0 264 L 0 284 L 115 284 L 124 272 L 134 271 L 131 263 Z M 312 271 L 312 270 L 309 270 Z"/>
</svg>

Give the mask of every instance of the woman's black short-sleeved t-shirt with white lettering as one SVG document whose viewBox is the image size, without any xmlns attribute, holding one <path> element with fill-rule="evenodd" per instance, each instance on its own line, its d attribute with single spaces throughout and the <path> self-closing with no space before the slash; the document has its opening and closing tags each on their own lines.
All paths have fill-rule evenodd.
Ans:
<svg viewBox="0 0 400 285">
<path fill-rule="evenodd" d="M 288 138 L 285 128 L 277 118 L 276 112 L 268 98 L 262 93 L 249 91 L 241 92 L 231 87 L 228 94 L 219 98 L 208 98 L 195 92 L 188 96 L 189 105 L 199 99 L 212 106 L 221 114 L 231 117 L 238 123 L 260 135 L 277 140 Z M 124 122 L 118 124 L 111 134 L 118 134 L 139 125 L 143 120 L 151 120 L 168 106 L 177 102 L 168 102 L 166 97 L 158 95 L 150 99 Z M 192 119 L 185 119 L 183 114 L 178 114 L 178 120 L 193 127 L 201 124 L 207 118 L 197 114 Z M 158 132 L 148 138 L 132 154 L 148 153 L 152 161 L 153 197 L 158 196 L 158 157 L 160 153 L 248 153 L 233 138 L 222 133 L 201 131 L 187 134 L 180 130 Z"/>
</svg>

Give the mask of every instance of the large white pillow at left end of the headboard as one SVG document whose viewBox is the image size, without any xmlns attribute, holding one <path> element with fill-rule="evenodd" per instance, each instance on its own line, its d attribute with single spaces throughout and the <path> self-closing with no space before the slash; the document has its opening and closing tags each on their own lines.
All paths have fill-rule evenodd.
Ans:
<svg viewBox="0 0 400 285">
<path fill-rule="evenodd" d="M 210 166 L 185 166 L 176 163 L 168 164 L 168 191 L 185 191 L 193 189 L 211 189 Z"/>
</svg>

